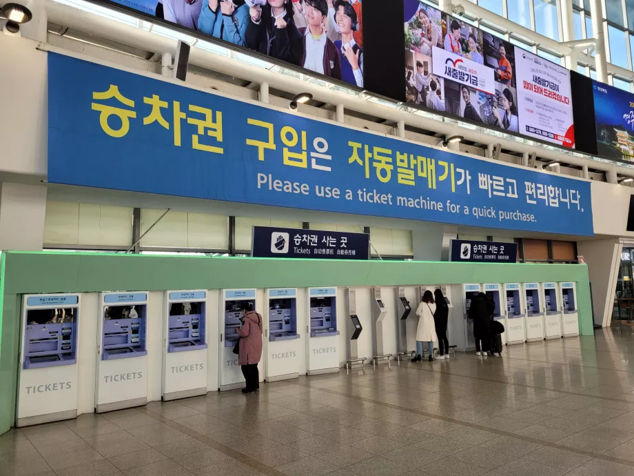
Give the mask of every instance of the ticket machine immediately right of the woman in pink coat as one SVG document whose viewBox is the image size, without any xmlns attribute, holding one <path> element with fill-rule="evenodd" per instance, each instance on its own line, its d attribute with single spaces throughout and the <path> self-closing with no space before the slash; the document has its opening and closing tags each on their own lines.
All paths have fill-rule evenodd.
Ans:
<svg viewBox="0 0 634 476">
<path fill-rule="evenodd" d="M 300 352 L 297 332 L 297 290 L 269 289 L 264 348 L 266 381 L 299 377 Z"/>
</svg>

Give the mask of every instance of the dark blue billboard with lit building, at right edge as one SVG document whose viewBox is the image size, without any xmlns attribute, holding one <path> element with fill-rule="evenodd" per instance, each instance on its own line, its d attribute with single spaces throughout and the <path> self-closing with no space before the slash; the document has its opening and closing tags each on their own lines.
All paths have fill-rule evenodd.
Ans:
<svg viewBox="0 0 634 476">
<path fill-rule="evenodd" d="M 634 95 L 592 81 L 597 152 L 610 159 L 634 160 Z"/>
</svg>

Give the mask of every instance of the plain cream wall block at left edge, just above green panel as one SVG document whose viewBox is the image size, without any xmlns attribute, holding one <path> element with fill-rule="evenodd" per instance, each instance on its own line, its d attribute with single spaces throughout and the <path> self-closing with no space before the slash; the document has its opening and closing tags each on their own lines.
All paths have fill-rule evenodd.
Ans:
<svg viewBox="0 0 634 476">
<path fill-rule="evenodd" d="M 47 191 L 42 185 L 0 184 L 0 249 L 42 250 Z"/>
</svg>

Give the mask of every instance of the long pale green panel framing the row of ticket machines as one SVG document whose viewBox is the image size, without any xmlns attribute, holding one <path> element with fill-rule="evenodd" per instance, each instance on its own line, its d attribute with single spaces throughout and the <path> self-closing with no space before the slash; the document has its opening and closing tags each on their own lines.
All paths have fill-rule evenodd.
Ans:
<svg viewBox="0 0 634 476">
<path fill-rule="evenodd" d="M 2 253 L 0 277 L 0 433 L 14 420 L 19 295 L 169 289 L 418 286 L 576 281 L 580 333 L 593 334 L 588 268 L 578 264 L 472 264 L 174 257 L 105 253 Z"/>
</svg>

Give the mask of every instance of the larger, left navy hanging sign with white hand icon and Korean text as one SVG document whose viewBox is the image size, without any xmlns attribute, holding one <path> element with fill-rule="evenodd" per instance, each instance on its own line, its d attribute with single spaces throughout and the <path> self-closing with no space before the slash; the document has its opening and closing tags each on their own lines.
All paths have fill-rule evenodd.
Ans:
<svg viewBox="0 0 634 476">
<path fill-rule="evenodd" d="M 255 258 L 369 259 L 370 235 L 254 226 Z"/>
</svg>

